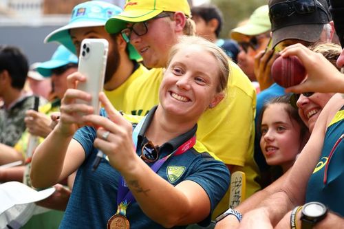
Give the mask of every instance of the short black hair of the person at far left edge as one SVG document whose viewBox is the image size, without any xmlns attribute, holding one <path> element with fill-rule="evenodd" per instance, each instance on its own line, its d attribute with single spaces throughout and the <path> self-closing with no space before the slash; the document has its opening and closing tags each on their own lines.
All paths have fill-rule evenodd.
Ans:
<svg viewBox="0 0 344 229">
<path fill-rule="evenodd" d="M 6 70 L 12 78 L 12 87 L 23 89 L 29 72 L 28 58 L 18 47 L 0 45 L 0 72 Z"/>
</svg>

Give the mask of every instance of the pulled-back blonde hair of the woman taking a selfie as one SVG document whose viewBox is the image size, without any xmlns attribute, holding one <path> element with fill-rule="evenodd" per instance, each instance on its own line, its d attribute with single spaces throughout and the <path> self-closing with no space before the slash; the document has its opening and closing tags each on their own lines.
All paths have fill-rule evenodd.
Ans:
<svg viewBox="0 0 344 229">
<path fill-rule="evenodd" d="M 169 66 L 171 60 L 175 54 L 177 54 L 180 50 L 183 50 L 185 47 L 189 47 L 191 45 L 197 45 L 202 47 L 204 50 L 212 54 L 215 59 L 217 60 L 217 64 L 219 66 L 219 84 L 216 87 L 217 92 L 225 91 L 227 88 L 228 78 L 230 74 L 229 70 L 229 59 L 228 56 L 224 53 L 224 51 L 218 47 L 215 43 L 211 41 L 207 41 L 200 36 L 180 36 L 178 39 L 178 43 L 171 47 L 169 52 L 169 58 L 167 61 L 167 65 Z"/>
</svg>

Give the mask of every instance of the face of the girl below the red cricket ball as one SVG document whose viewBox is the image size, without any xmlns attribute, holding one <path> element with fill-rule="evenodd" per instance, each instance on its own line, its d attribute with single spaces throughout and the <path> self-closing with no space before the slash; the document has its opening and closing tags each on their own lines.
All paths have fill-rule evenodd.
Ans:
<svg viewBox="0 0 344 229">
<path fill-rule="evenodd" d="M 268 105 L 261 120 L 261 151 L 268 164 L 280 165 L 283 171 L 292 166 L 303 146 L 301 127 L 290 118 L 287 106 L 283 103 Z"/>
</svg>

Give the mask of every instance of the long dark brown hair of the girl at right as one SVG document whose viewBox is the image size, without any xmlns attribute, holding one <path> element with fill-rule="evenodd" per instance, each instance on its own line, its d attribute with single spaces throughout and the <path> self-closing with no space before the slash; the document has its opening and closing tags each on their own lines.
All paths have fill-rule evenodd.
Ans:
<svg viewBox="0 0 344 229">
<path fill-rule="evenodd" d="M 266 108 L 268 108 L 269 105 L 281 103 L 288 105 L 286 107 L 286 112 L 288 113 L 289 118 L 297 121 L 297 123 L 300 125 L 301 141 L 303 140 L 304 136 L 306 135 L 306 133 L 308 133 L 309 130 L 308 127 L 306 127 L 305 123 L 301 120 L 298 110 L 290 105 L 291 95 L 292 94 L 286 94 L 284 96 L 275 97 L 264 103 L 259 114 L 259 121 L 257 123 L 257 133 L 259 133 L 259 135 L 261 135 L 261 121 L 263 120 L 263 114 Z"/>
</svg>

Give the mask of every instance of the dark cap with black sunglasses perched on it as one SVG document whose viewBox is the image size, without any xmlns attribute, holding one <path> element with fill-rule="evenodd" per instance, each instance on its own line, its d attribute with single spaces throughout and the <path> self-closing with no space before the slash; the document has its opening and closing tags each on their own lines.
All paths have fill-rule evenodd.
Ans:
<svg viewBox="0 0 344 229">
<path fill-rule="evenodd" d="M 326 0 L 270 0 L 272 47 L 286 39 L 319 41 L 323 25 L 331 17 Z"/>
</svg>

